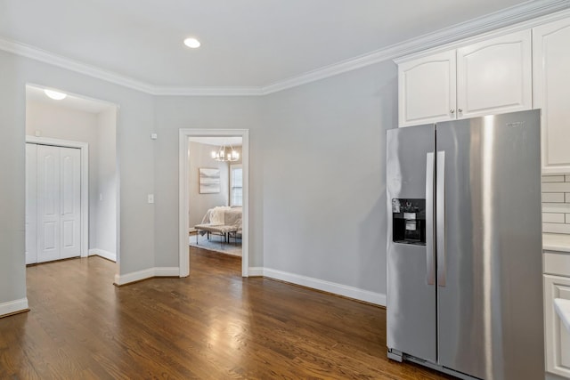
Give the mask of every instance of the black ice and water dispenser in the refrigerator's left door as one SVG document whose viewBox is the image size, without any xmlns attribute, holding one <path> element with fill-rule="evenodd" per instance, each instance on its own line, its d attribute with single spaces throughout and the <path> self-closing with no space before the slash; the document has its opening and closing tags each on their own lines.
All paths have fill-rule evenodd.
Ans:
<svg viewBox="0 0 570 380">
<path fill-rule="evenodd" d="M 392 240 L 426 245 L 426 199 L 392 199 Z"/>
</svg>

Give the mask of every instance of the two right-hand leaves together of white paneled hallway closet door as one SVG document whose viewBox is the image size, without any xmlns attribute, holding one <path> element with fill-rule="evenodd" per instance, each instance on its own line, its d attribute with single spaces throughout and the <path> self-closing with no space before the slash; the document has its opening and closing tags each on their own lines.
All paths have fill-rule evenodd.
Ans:
<svg viewBox="0 0 570 380">
<path fill-rule="evenodd" d="M 37 263 L 81 255 L 81 156 L 37 146 Z"/>
</svg>

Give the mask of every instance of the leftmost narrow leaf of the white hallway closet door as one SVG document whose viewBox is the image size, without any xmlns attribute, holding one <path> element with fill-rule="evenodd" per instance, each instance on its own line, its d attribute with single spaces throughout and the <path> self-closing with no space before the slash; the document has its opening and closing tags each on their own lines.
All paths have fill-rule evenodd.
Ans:
<svg viewBox="0 0 570 380">
<path fill-rule="evenodd" d="M 37 145 L 26 144 L 26 263 L 37 263 Z"/>
</svg>

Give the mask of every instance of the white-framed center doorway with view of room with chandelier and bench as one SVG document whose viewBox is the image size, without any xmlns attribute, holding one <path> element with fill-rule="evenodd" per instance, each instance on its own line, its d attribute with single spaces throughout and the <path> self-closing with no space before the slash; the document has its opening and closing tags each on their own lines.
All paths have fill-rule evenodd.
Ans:
<svg viewBox="0 0 570 380">
<path fill-rule="evenodd" d="M 247 277 L 248 130 L 180 131 L 180 205 L 181 277 L 189 246 L 241 256 Z"/>
</svg>

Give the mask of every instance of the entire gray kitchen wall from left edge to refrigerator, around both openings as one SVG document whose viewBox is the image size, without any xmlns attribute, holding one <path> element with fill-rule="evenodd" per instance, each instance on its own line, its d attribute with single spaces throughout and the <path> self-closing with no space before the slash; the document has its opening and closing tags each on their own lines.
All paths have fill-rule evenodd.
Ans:
<svg viewBox="0 0 570 380">
<path fill-rule="evenodd" d="M 384 136 L 397 125 L 394 63 L 265 97 L 152 97 L 4 52 L 0 69 L 0 158 L 12 163 L 0 168 L 0 303 L 26 294 L 26 83 L 120 106 L 121 274 L 178 265 L 179 129 L 247 128 L 250 266 L 386 292 Z"/>
</svg>

